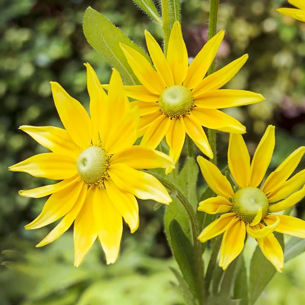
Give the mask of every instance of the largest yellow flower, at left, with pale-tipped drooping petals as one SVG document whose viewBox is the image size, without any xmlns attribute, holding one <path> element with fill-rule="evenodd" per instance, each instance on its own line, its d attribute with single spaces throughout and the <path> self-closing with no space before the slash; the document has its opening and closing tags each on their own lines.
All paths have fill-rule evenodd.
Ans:
<svg viewBox="0 0 305 305">
<path fill-rule="evenodd" d="M 51 82 L 54 103 L 65 129 L 21 126 L 52 153 L 36 155 L 10 167 L 36 177 L 62 180 L 19 193 L 33 198 L 52 194 L 41 214 L 26 229 L 41 228 L 63 218 L 37 247 L 58 238 L 74 222 L 76 266 L 97 237 L 107 264 L 115 262 L 122 217 L 132 233 L 139 225 L 135 196 L 164 204 L 171 202 L 159 180 L 137 169 L 174 166 L 159 151 L 132 146 L 137 139 L 139 114 L 130 108 L 118 72 L 113 70 L 107 96 L 93 68 L 85 66 L 90 117 L 77 100 L 58 83 Z"/>
</svg>

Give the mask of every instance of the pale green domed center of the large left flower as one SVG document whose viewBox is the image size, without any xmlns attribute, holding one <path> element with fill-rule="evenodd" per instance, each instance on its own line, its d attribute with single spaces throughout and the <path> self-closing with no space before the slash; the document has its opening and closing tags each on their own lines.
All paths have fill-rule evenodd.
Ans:
<svg viewBox="0 0 305 305">
<path fill-rule="evenodd" d="M 90 146 L 79 155 L 77 172 L 86 184 L 99 184 L 107 176 L 108 160 L 109 156 L 103 148 Z"/>
</svg>

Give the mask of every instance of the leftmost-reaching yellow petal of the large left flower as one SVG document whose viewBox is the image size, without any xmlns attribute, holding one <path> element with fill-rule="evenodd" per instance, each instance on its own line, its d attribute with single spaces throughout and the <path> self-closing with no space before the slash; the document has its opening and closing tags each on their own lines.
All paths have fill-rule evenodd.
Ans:
<svg viewBox="0 0 305 305">
<path fill-rule="evenodd" d="M 75 160 L 55 153 L 35 155 L 10 166 L 9 170 L 55 180 L 69 179 L 77 174 Z"/>
</svg>

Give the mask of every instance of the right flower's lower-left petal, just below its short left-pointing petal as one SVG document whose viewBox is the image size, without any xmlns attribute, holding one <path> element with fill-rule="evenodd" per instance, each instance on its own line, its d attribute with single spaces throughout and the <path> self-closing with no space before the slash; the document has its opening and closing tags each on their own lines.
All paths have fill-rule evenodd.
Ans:
<svg viewBox="0 0 305 305">
<path fill-rule="evenodd" d="M 211 238 L 214 238 L 223 233 L 229 225 L 232 225 L 232 223 L 237 221 L 238 219 L 236 218 L 235 213 L 223 214 L 214 222 L 205 227 L 199 234 L 198 239 L 201 242 L 205 242 Z"/>
</svg>

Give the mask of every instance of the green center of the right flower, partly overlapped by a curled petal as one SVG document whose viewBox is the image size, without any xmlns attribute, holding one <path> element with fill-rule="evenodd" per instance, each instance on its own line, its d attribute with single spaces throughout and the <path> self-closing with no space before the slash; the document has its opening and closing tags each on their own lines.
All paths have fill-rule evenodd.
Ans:
<svg viewBox="0 0 305 305">
<path fill-rule="evenodd" d="M 254 220 L 260 208 L 262 219 L 267 215 L 269 203 L 266 195 L 257 188 L 247 187 L 238 190 L 233 197 L 233 212 L 245 223 Z"/>
</svg>

